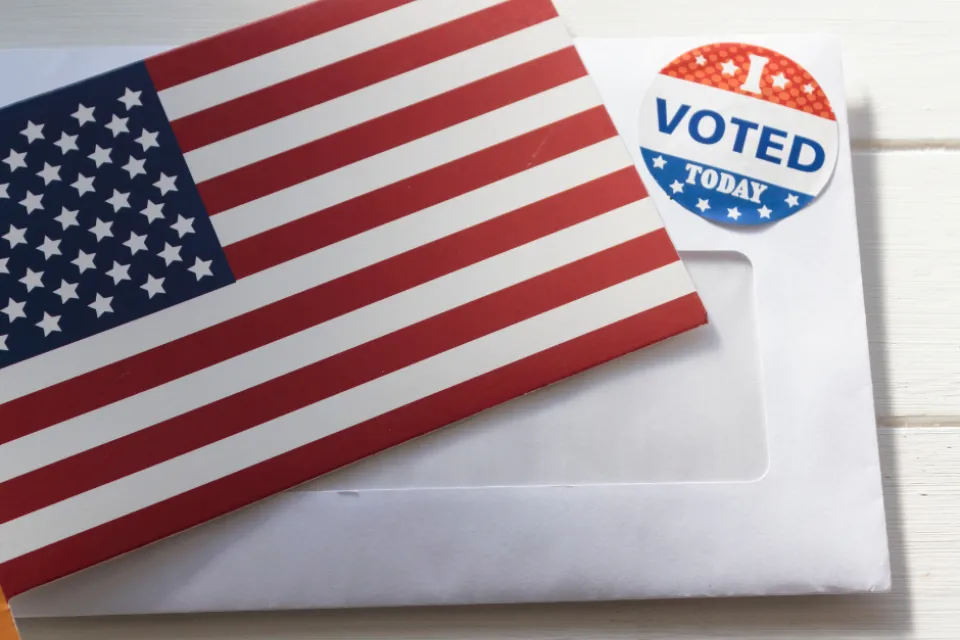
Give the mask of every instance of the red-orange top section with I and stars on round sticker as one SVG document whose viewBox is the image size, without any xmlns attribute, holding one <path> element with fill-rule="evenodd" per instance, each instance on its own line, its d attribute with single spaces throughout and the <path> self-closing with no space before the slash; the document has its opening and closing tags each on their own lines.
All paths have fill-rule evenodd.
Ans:
<svg viewBox="0 0 960 640">
<path fill-rule="evenodd" d="M 751 53 L 770 60 L 760 80 L 761 95 L 740 88 L 747 79 Z M 727 73 L 724 73 L 724 64 Z M 734 68 L 731 74 L 729 70 Z M 826 94 L 810 72 L 785 55 L 764 47 L 737 42 L 710 44 L 686 52 L 660 73 L 781 104 L 827 120 L 837 119 Z"/>
</svg>

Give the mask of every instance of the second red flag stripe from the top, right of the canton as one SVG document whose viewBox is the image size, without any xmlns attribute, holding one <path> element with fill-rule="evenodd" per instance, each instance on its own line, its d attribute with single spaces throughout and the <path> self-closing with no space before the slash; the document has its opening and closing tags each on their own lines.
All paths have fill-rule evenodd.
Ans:
<svg viewBox="0 0 960 640">
<path fill-rule="evenodd" d="M 472 49 L 557 15 L 550 0 L 507 2 L 173 121 L 184 152 Z"/>
</svg>

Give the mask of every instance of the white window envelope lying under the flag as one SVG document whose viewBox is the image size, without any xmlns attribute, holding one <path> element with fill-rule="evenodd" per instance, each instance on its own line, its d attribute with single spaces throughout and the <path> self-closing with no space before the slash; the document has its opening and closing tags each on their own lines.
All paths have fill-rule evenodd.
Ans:
<svg viewBox="0 0 960 640">
<path fill-rule="evenodd" d="M 17 616 L 889 588 L 838 44 L 751 37 L 832 96 L 809 208 L 744 231 L 641 174 L 709 326 L 14 598 Z M 697 39 L 578 47 L 642 166 L 654 74 Z M 7 103 L 156 49 L 4 51 Z"/>
</svg>

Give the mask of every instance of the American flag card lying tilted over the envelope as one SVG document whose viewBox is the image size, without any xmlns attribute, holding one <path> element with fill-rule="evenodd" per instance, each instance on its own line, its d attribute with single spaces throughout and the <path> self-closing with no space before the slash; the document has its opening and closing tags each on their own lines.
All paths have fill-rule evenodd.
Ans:
<svg viewBox="0 0 960 640">
<path fill-rule="evenodd" d="M 322 0 L 0 156 L 8 596 L 705 322 L 549 0 Z"/>
</svg>

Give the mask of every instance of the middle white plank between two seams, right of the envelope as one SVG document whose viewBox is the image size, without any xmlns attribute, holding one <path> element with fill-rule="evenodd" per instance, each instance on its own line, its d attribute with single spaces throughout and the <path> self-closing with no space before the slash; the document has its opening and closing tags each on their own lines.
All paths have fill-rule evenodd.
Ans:
<svg viewBox="0 0 960 640">
<path fill-rule="evenodd" d="M 877 413 L 960 414 L 960 153 L 853 161 Z"/>
</svg>

